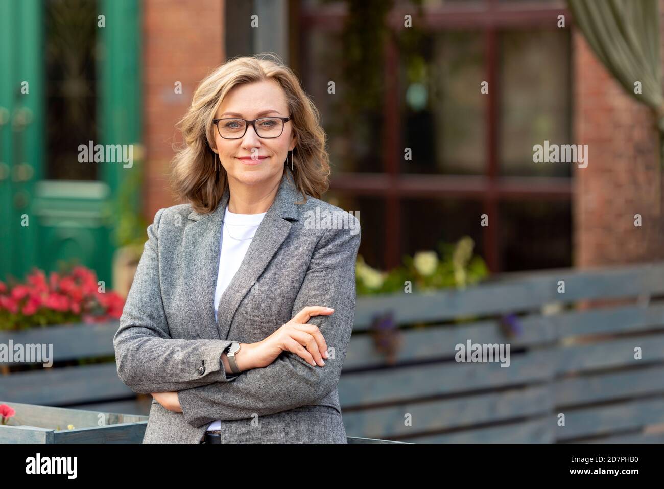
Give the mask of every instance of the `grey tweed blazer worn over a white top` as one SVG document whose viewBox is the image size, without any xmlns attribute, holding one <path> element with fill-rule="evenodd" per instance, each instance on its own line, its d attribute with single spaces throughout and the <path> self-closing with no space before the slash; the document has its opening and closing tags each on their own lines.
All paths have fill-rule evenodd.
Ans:
<svg viewBox="0 0 664 489">
<path fill-rule="evenodd" d="M 208 214 L 189 204 L 160 209 L 147 228 L 114 337 L 118 375 L 136 393 L 178 391 L 183 413 L 153 399 L 143 443 L 199 443 L 216 419 L 224 442 L 345 443 L 337 383 L 355 318 L 359 219 L 345 213 L 346 229 L 338 223 L 316 229 L 310 218 L 317 211 L 345 211 L 313 197 L 295 204 L 303 197 L 284 171 L 220 299 L 217 324 L 213 300 L 228 196 Z M 335 309 L 309 320 L 330 349 L 325 366 L 284 352 L 267 367 L 226 375 L 220 355 L 231 342 L 263 340 L 305 306 Z"/>
</svg>

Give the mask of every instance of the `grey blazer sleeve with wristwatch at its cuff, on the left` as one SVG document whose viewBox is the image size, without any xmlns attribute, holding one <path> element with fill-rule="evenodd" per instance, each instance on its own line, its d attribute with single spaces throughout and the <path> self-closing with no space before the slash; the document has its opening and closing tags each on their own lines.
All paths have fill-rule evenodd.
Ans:
<svg viewBox="0 0 664 489">
<path fill-rule="evenodd" d="M 226 340 L 174 340 L 170 336 L 159 281 L 159 209 L 147 227 L 147 242 L 127 295 L 113 345 L 118 376 L 136 393 L 173 392 L 226 377 L 221 353 Z M 201 374 L 199 368 L 205 367 Z"/>
</svg>

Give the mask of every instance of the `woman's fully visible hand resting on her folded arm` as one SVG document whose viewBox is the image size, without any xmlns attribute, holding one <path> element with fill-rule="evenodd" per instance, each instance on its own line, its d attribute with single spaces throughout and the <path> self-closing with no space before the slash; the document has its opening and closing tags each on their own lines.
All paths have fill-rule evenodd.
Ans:
<svg viewBox="0 0 664 489">
<path fill-rule="evenodd" d="M 323 306 L 309 306 L 295 314 L 295 317 L 272 333 L 268 338 L 258 343 L 242 343 L 238 351 L 238 368 L 246 369 L 267 367 L 278 357 L 282 351 L 292 351 L 311 365 L 325 365 L 323 358 L 327 358 L 327 343 L 318 326 L 307 324 L 311 316 L 333 314 L 332 308 Z M 244 349 L 244 355 L 242 350 Z"/>
</svg>

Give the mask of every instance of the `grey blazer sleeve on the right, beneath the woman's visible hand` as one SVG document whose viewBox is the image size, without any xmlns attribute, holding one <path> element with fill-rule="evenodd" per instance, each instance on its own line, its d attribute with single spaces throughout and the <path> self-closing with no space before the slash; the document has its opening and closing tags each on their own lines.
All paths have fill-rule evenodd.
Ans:
<svg viewBox="0 0 664 489">
<path fill-rule="evenodd" d="M 270 365 L 243 372 L 233 382 L 180 391 L 180 407 L 190 425 L 315 405 L 337 387 L 355 320 L 355 260 L 361 230 L 357 217 L 351 218 L 356 220 L 353 233 L 328 229 L 319 240 L 291 312 L 293 317 L 306 306 L 334 308 L 330 316 L 313 316 L 308 322 L 318 326 L 328 349 L 333 349 L 325 365 L 309 365 L 299 355 L 284 351 Z"/>
</svg>

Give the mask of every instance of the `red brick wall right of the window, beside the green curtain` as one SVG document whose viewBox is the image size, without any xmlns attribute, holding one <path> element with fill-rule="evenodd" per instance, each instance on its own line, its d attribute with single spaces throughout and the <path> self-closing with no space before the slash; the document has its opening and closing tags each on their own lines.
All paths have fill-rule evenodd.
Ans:
<svg viewBox="0 0 664 489">
<path fill-rule="evenodd" d="M 574 167 L 574 265 L 664 258 L 655 119 L 610 76 L 578 30 L 572 52 L 574 142 L 588 144 L 588 167 Z M 635 214 L 642 227 L 634 226 Z"/>
</svg>

